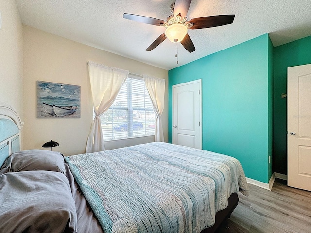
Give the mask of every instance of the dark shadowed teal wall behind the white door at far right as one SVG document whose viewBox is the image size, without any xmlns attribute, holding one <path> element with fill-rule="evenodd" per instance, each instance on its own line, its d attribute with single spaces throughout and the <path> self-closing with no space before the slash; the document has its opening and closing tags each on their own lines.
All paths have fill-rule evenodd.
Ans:
<svg viewBox="0 0 311 233">
<path fill-rule="evenodd" d="M 311 36 L 274 48 L 274 159 L 273 171 L 287 174 L 287 67 L 311 64 Z"/>
</svg>

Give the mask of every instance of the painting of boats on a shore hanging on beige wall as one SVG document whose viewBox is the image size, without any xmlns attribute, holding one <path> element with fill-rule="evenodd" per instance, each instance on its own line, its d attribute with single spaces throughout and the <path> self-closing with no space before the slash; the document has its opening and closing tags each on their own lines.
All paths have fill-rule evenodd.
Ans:
<svg viewBox="0 0 311 233">
<path fill-rule="evenodd" d="M 37 118 L 80 118 L 81 87 L 37 81 Z"/>
</svg>

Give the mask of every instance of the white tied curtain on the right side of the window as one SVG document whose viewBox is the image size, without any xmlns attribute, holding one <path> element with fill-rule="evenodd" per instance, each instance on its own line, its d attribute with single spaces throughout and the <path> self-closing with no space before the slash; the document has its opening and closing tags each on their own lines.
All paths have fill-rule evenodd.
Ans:
<svg viewBox="0 0 311 233">
<path fill-rule="evenodd" d="M 161 115 L 164 109 L 165 79 L 158 79 L 147 75 L 143 75 L 143 78 L 156 115 L 155 142 L 164 142 Z"/>
</svg>

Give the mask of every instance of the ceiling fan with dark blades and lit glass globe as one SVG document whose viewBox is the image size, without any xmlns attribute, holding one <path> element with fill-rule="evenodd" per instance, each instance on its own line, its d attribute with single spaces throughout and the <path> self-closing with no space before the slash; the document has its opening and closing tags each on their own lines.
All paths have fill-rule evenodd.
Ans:
<svg viewBox="0 0 311 233">
<path fill-rule="evenodd" d="M 146 49 L 151 51 L 161 44 L 166 38 L 174 43 L 180 42 L 189 52 L 195 51 L 188 29 L 201 29 L 218 27 L 233 22 L 235 15 L 220 15 L 193 18 L 188 21 L 186 15 L 190 7 L 191 0 L 176 0 L 170 7 L 172 15 L 167 17 L 166 21 L 146 16 L 139 16 L 124 13 L 123 18 L 134 20 L 141 23 L 163 26 L 166 28 L 165 33 L 161 34 L 154 42 Z"/>
</svg>

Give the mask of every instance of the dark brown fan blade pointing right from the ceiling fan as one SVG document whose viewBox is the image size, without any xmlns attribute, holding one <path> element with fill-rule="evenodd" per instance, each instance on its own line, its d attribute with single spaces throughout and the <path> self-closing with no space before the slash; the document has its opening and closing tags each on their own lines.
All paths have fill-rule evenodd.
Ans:
<svg viewBox="0 0 311 233">
<path fill-rule="evenodd" d="M 187 23 L 193 23 L 189 29 L 212 28 L 233 23 L 235 15 L 207 16 L 192 18 Z"/>
</svg>

